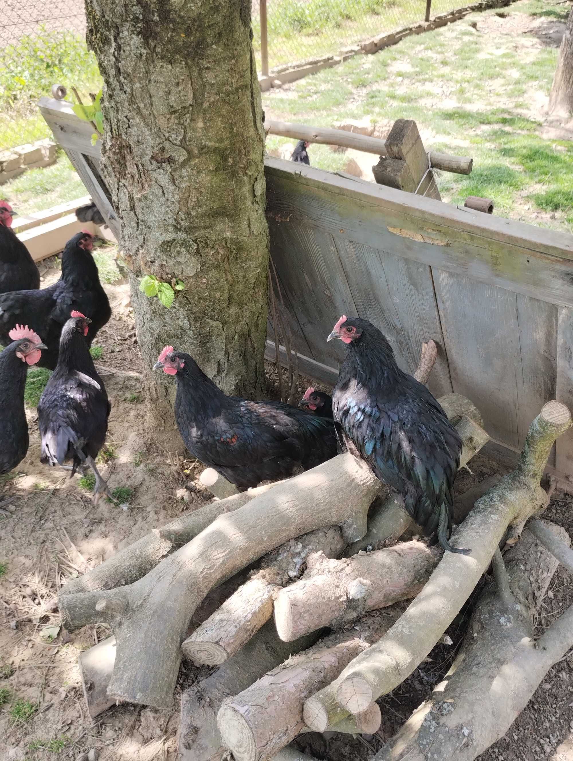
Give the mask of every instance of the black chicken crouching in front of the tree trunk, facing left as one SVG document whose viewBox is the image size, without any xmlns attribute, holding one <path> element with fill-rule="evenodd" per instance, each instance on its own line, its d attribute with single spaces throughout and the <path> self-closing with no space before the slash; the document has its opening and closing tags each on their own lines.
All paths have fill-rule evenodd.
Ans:
<svg viewBox="0 0 573 761">
<path fill-rule="evenodd" d="M 336 455 L 333 422 L 282 402 L 225 394 L 193 357 L 166 346 L 154 370 L 177 375 L 175 419 L 187 449 L 243 492 Z"/>
</svg>

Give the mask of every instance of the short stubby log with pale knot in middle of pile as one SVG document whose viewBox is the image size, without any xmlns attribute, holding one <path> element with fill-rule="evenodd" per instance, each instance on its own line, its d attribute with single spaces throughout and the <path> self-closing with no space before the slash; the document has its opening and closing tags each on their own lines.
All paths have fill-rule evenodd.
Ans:
<svg viewBox="0 0 573 761">
<path fill-rule="evenodd" d="M 350 559 L 308 559 L 301 581 L 279 591 L 275 626 L 284 642 L 323 626 L 340 629 L 369 610 L 415 597 L 430 578 L 443 552 L 423 542 L 403 542 Z"/>
</svg>

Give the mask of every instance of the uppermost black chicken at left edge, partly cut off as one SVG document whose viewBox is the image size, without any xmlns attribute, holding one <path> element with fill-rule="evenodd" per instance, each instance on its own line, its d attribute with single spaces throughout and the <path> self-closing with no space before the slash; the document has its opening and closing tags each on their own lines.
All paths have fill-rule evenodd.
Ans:
<svg viewBox="0 0 573 761">
<path fill-rule="evenodd" d="M 0 201 L 0 294 L 40 288 L 40 272 L 30 252 L 11 230 L 13 216 L 11 205 Z"/>
</svg>

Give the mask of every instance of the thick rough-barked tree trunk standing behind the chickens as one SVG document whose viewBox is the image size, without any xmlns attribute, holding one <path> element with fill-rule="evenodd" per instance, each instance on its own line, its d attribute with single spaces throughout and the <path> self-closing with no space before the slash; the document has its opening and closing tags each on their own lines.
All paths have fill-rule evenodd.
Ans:
<svg viewBox="0 0 573 761">
<path fill-rule="evenodd" d="M 250 0 L 86 0 L 86 14 L 148 422 L 167 438 L 175 384 L 151 373 L 164 345 L 225 393 L 263 387 L 269 233 Z M 144 275 L 185 290 L 167 310 L 139 291 Z"/>
</svg>

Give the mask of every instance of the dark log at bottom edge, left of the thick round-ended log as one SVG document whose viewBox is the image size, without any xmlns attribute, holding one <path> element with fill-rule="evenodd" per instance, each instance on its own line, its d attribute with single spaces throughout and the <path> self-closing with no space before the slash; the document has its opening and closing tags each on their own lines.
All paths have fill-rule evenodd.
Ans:
<svg viewBox="0 0 573 761">
<path fill-rule="evenodd" d="M 227 749 L 218 731 L 217 714 L 224 699 L 240 693 L 316 639 L 311 635 L 301 642 L 281 642 L 269 622 L 215 673 L 186 689 L 181 695 L 180 761 L 222 761 Z"/>
</svg>

